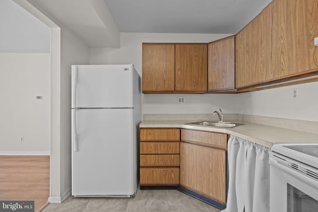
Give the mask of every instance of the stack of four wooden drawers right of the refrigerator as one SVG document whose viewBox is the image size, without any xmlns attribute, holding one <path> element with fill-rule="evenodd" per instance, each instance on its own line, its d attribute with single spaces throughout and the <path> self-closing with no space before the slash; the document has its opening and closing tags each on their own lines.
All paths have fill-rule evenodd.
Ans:
<svg viewBox="0 0 318 212">
<path fill-rule="evenodd" d="M 140 130 L 140 185 L 179 185 L 180 129 Z"/>
</svg>

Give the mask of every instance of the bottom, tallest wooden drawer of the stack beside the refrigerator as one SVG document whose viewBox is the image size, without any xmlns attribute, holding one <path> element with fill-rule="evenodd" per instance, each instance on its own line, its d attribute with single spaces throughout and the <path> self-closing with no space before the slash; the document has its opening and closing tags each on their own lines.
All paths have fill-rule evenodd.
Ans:
<svg viewBox="0 0 318 212">
<path fill-rule="evenodd" d="M 178 185 L 179 168 L 140 168 L 140 185 Z"/>
</svg>

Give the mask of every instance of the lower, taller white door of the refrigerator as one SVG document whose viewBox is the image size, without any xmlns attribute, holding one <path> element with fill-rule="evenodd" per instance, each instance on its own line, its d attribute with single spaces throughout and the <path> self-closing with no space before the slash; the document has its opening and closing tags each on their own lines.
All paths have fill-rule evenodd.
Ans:
<svg viewBox="0 0 318 212">
<path fill-rule="evenodd" d="M 135 194 L 133 109 L 72 109 L 72 195 Z"/>
</svg>

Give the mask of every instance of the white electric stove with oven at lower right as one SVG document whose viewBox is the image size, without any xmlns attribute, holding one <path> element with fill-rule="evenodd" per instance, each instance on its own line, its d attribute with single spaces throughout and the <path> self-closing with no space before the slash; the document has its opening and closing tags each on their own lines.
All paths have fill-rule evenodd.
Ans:
<svg viewBox="0 0 318 212">
<path fill-rule="evenodd" d="M 270 212 L 317 212 L 318 143 L 271 148 Z"/>
</svg>

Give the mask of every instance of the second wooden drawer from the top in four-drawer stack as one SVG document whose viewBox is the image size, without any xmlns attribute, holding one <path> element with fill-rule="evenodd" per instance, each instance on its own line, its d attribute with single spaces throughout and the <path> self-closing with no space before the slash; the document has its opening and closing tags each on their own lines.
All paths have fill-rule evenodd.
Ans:
<svg viewBox="0 0 318 212">
<path fill-rule="evenodd" d="M 141 154 L 179 154 L 180 142 L 140 142 Z"/>
</svg>

